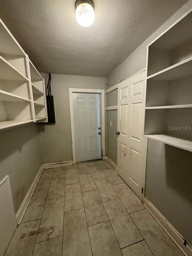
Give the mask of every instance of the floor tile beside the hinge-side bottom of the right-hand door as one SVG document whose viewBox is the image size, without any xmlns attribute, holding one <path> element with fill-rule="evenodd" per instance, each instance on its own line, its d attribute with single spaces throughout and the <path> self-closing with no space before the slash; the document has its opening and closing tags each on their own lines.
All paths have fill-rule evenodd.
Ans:
<svg viewBox="0 0 192 256">
<path fill-rule="evenodd" d="M 124 207 L 128 213 L 135 212 L 137 210 L 145 209 L 139 198 L 133 193 L 133 191 L 127 186 L 126 183 L 113 186 L 114 190 L 121 199 Z"/>
</svg>

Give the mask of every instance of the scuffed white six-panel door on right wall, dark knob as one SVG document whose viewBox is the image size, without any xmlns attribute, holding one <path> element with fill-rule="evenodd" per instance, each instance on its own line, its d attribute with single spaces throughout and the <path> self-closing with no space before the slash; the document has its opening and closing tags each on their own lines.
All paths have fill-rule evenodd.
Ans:
<svg viewBox="0 0 192 256">
<path fill-rule="evenodd" d="M 143 199 L 147 139 L 143 137 L 145 72 L 119 83 L 117 171 Z"/>
</svg>

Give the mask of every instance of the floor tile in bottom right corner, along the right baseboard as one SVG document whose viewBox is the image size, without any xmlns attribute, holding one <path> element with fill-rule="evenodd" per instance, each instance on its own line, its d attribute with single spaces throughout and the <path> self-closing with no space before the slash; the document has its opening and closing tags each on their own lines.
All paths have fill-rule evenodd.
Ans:
<svg viewBox="0 0 192 256">
<path fill-rule="evenodd" d="M 130 216 L 155 256 L 183 256 L 182 252 L 147 209 L 131 213 Z"/>
</svg>

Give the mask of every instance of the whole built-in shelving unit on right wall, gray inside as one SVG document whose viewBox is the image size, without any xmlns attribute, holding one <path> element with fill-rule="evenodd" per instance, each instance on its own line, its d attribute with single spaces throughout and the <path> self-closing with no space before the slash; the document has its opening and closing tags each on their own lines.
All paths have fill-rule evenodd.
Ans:
<svg viewBox="0 0 192 256">
<path fill-rule="evenodd" d="M 192 151 L 192 9 L 148 46 L 144 136 Z"/>
</svg>

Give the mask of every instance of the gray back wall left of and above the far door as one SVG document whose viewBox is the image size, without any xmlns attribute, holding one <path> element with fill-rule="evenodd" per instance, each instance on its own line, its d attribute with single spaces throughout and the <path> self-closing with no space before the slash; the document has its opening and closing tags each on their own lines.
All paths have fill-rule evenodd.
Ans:
<svg viewBox="0 0 192 256">
<path fill-rule="evenodd" d="M 46 75 L 43 74 L 45 77 Z M 69 87 L 106 89 L 106 78 L 52 74 L 56 124 L 39 125 L 39 142 L 43 163 L 72 160 Z"/>
</svg>

